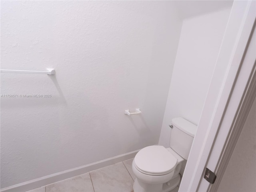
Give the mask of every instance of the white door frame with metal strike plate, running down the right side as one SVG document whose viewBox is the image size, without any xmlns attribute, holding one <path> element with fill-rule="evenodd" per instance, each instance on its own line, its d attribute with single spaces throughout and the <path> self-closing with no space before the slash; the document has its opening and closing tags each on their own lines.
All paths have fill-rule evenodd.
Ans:
<svg viewBox="0 0 256 192">
<path fill-rule="evenodd" d="M 218 188 L 256 94 L 255 20 L 255 1 L 234 1 L 179 192 Z"/>
</svg>

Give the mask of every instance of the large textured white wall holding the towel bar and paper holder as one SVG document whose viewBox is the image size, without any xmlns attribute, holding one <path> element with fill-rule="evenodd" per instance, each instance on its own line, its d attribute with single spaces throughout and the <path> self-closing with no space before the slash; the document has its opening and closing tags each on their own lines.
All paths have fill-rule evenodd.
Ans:
<svg viewBox="0 0 256 192">
<path fill-rule="evenodd" d="M 158 142 L 182 25 L 172 3 L 1 1 L 1 68 L 56 70 L 1 74 L 1 94 L 52 95 L 1 98 L 1 188 Z"/>
</svg>

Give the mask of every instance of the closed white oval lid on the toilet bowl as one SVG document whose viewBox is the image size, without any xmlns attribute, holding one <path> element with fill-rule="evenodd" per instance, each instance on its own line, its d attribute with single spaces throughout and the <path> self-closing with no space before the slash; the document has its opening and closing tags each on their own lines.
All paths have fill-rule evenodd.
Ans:
<svg viewBox="0 0 256 192">
<path fill-rule="evenodd" d="M 148 174 L 168 174 L 176 166 L 177 159 L 163 146 L 148 146 L 134 157 L 137 168 Z"/>
</svg>

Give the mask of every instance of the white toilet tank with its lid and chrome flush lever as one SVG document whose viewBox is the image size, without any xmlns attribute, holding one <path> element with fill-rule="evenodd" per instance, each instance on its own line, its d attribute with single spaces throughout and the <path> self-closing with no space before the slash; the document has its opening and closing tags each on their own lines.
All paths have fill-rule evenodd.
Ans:
<svg viewBox="0 0 256 192">
<path fill-rule="evenodd" d="M 172 126 L 170 147 L 187 160 L 197 126 L 181 117 L 173 118 Z"/>
</svg>

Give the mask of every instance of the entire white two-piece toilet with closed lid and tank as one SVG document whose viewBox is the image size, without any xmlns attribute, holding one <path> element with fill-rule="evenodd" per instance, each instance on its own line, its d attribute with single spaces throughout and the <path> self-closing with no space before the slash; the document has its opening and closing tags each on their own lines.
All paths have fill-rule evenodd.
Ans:
<svg viewBox="0 0 256 192">
<path fill-rule="evenodd" d="M 134 157 L 134 192 L 169 192 L 178 186 L 181 163 L 188 159 L 197 126 L 178 117 L 170 127 L 169 148 L 148 146 Z"/>
</svg>

